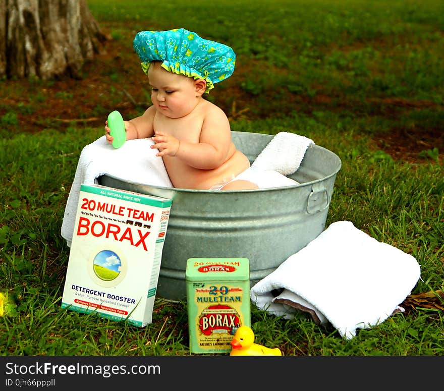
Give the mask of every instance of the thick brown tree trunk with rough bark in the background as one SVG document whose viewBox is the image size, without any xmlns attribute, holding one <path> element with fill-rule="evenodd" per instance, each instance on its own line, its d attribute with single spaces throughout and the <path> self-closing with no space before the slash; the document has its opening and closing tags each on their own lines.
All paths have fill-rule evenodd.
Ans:
<svg viewBox="0 0 444 391">
<path fill-rule="evenodd" d="M 103 53 L 106 37 L 86 0 L 0 0 L 0 76 L 68 74 Z"/>
</svg>

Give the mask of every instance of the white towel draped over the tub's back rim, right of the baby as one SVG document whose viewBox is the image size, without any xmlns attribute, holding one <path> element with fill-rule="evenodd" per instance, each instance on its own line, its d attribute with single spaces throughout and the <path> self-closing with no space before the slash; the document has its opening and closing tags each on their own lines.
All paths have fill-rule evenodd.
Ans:
<svg viewBox="0 0 444 391">
<path fill-rule="evenodd" d="M 302 162 L 305 151 L 313 140 L 289 132 L 279 132 L 259 153 L 252 167 L 274 170 L 283 175 L 293 174 Z"/>
</svg>

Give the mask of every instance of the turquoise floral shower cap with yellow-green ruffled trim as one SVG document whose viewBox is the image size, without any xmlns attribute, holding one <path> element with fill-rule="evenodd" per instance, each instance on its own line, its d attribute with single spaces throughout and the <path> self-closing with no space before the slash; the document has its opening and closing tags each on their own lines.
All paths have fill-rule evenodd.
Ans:
<svg viewBox="0 0 444 391">
<path fill-rule="evenodd" d="M 133 46 L 145 73 L 152 61 L 162 61 L 162 68 L 169 72 L 204 79 L 206 93 L 215 83 L 230 77 L 236 63 L 236 54 L 230 46 L 203 39 L 183 28 L 140 31 Z"/>
</svg>

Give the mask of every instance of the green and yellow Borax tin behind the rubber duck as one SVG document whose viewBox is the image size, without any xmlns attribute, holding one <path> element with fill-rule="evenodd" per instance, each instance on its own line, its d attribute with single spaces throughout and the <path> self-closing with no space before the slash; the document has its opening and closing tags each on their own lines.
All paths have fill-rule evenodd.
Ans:
<svg viewBox="0 0 444 391">
<path fill-rule="evenodd" d="M 239 326 L 250 326 L 247 258 L 190 258 L 186 268 L 191 353 L 228 353 Z"/>
</svg>

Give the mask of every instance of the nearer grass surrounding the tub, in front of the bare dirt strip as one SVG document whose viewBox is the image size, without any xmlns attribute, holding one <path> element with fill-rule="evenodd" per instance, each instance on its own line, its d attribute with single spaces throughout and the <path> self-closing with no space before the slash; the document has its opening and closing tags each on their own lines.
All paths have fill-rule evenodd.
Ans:
<svg viewBox="0 0 444 391">
<path fill-rule="evenodd" d="M 339 119 L 337 119 L 339 121 Z M 442 289 L 444 212 L 442 166 L 372 159 L 368 140 L 353 126 L 339 135 L 312 118 L 238 122 L 233 130 L 307 135 L 337 153 L 337 176 L 327 225 L 350 220 L 379 241 L 412 254 L 421 264 L 415 293 Z M 101 129 L 47 131 L 1 140 L 3 222 L 1 286 L 14 305 L 0 318 L 8 355 L 188 355 L 186 303 L 156 299 L 153 323 L 144 328 L 61 309 L 69 249 L 61 221 L 83 145 Z M 43 153 L 44 146 L 44 153 Z M 396 314 L 344 341 L 331 326 L 311 319 L 274 317 L 252 307 L 257 342 L 286 355 L 442 355 L 442 311 Z"/>
</svg>

